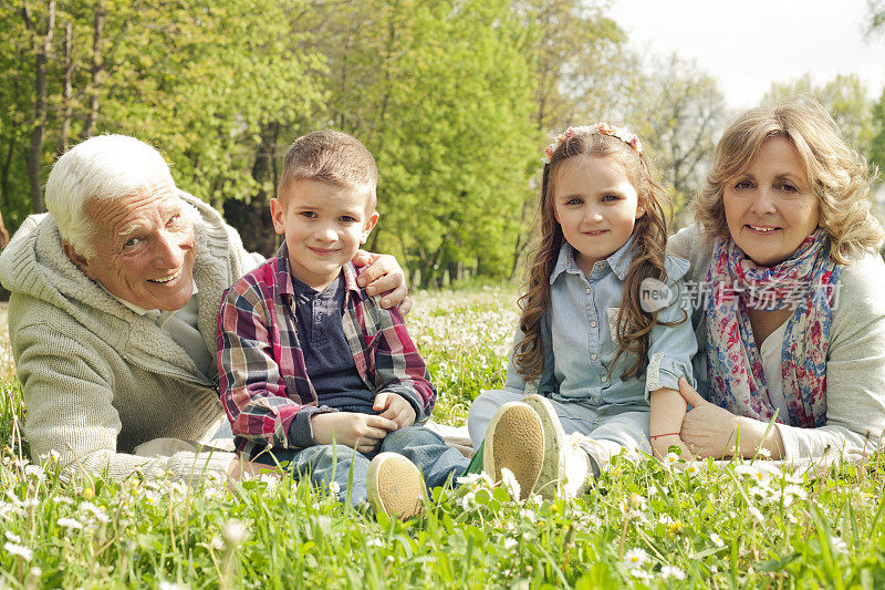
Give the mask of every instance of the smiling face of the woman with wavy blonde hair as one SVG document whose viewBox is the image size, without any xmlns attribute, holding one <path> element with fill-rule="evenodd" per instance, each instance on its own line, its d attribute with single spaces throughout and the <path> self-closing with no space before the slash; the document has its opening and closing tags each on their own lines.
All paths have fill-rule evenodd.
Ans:
<svg viewBox="0 0 885 590">
<path fill-rule="evenodd" d="M 783 262 L 818 227 L 820 206 L 787 137 L 769 137 L 722 190 L 731 238 L 757 265 Z"/>
</svg>

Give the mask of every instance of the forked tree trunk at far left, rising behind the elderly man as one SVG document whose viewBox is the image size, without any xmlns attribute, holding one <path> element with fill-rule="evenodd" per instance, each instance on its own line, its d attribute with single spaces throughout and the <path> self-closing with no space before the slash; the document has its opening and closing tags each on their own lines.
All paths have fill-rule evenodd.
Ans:
<svg viewBox="0 0 885 590">
<path fill-rule="evenodd" d="M 46 61 L 52 48 L 52 33 L 55 30 L 55 0 L 46 6 L 46 27 L 44 32 L 37 30 L 37 23 L 28 4 L 22 9 L 24 23 L 33 35 L 34 43 L 34 128 L 31 132 L 31 145 L 28 149 L 28 180 L 31 184 L 31 210 L 43 211 L 43 198 L 40 187 L 40 163 L 43 155 L 43 139 L 46 130 Z M 42 39 L 41 39 L 42 38 Z"/>
</svg>

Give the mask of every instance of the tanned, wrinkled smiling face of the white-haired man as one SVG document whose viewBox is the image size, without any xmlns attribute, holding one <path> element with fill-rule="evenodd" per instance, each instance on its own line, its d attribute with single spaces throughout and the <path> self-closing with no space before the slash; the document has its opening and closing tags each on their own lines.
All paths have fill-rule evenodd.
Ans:
<svg viewBox="0 0 885 590">
<path fill-rule="evenodd" d="M 168 184 L 119 199 L 94 199 L 95 256 L 69 256 L 86 277 L 129 303 L 163 311 L 187 304 L 194 291 L 194 226 Z"/>
</svg>

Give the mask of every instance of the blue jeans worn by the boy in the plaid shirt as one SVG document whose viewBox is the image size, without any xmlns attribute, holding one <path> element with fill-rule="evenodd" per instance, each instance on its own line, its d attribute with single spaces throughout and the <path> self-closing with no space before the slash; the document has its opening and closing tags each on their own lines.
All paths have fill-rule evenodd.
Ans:
<svg viewBox="0 0 885 590">
<path fill-rule="evenodd" d="M 336 482 L 341 501 L 346 501 L 347 478 L 353 469 L 351 505 L 361 507 L 368 499 L 368 463 L 378 453 L 398 453 L 407 457 L 424 474 L 428 489 L 447 485 L 467 468 L 467 459 L 458 449 L 446 445 L 441 436 L 424 426 L 407 426 L 392 432 L 367 455 L 344 445 L 314 445 L 298 449 L 274 448 L 252 460 L 266 465 L 288 460 L 288 469 L 296 479 L 310 477 L 315 485 L 324 486 Z"/>
</svg>

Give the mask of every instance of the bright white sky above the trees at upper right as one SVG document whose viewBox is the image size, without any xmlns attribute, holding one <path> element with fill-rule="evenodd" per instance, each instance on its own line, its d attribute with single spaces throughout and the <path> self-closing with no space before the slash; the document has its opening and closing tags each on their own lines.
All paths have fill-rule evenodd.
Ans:
<svg viewBox="0 0 885 590">
<path fill-rule="evenodd" d="M 612 0 L 607 15 L 641 50 L 695 60 L 732 108 L 805 73 L 815 84 L 856 73 L 871 99 L 885 86 L 885 34 L 864 39 L 866 0 Z"/>
</svg>

